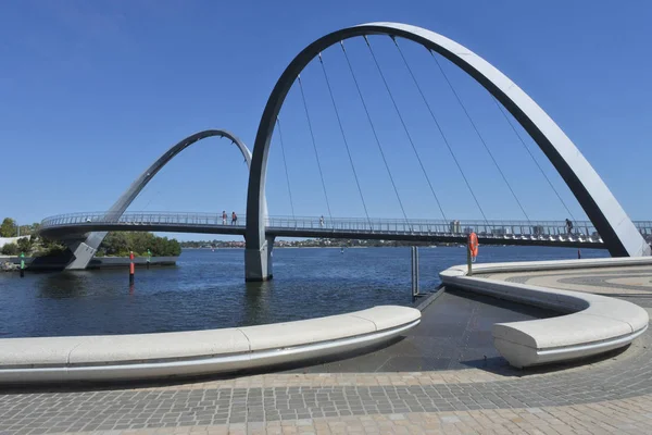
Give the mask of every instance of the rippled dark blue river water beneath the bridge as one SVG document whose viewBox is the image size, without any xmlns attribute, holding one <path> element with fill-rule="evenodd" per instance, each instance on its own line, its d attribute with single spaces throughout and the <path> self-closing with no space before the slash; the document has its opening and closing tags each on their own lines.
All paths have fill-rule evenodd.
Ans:
<svg viewBox="0 0 652 435">
<path fill-rule="evenodd" d="M 584 249 L 582 258 L 607 257 Z M 484 247 L 479 262 L 577 258 L 576 249 Z M 457 247 L 419 249 L 422 291 L 466 262 Z M 176 266 L 0 274 L 0 337 L 135 334 L 310 319 L 377 304 L 412 304 L 409 248 L 284 248 L 274 279 L 244 283 L 240 249 L 184 250 Z"/>
</svg>

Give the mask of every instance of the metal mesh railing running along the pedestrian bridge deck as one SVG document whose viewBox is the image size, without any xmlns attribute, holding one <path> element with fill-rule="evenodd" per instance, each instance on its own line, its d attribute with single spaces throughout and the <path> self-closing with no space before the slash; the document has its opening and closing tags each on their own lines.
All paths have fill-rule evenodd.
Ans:
<svg viewBox="0 0 652 435">
<path fill-rule="evenodd" d="M 120 223 L 125 225 L 227 225 L 231 226 L 231 215 L 226 221 L 222 213 L 193 212 L 80 212 L 60 214 L 47 217 L 41 228 L 55 226 L 92 226 L 102 223 Z M 581 238 L 601 241 L 593 224 L 588 221 L 573 223 L 570 234 L 564 221 L 477 221 L 477 220 L 427 220 L 427 219 L 364 219 L 364 217 L 324 217 L 324 216 L 269 216 L 266 226 L 276 229 L 314 231 L 327 236 L 328 232 L 351 233 L 392 233 L 392 234 L 438 234 L 462 235 L 475 231 L 480 237 L 498 238 L 527 237 L 535 239 Z M 237 226 L 246 226 L 244 213 L 238 213 Z M 652 222 L 635 221 L 635 224 L 647 238 L 652 238 Z"/>
</svg>

